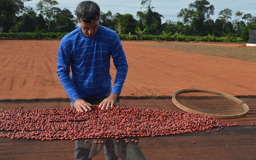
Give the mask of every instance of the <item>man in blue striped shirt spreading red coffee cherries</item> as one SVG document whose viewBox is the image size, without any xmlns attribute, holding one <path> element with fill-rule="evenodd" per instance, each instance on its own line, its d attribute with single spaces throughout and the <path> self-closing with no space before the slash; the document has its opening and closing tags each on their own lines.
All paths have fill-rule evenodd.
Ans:
<svg viewBox="0 0 256 160">
<path fill-rule="evenodd" d="M 87 97 L 106 96 L 99 107 L 108 109 L 116 102 L 127 75 L 124 50 L 115 31 L 99 25 L 98 4 L 81 2 L 76 7 L 76 16 L 80 27 L 64 36 L 60 42 L 57 56 L 60 82 L 71 100 L 71 107 L 77 111 L 92 109 L 92 104 L 83 99 Z M 111 57 L 117 70 L 113 88 L 109 73 Z M 84 153 L 90 149 L 80 148 L 79 142 L 76 140 L 75 158 L 89 159 Z M 107 152 L 105 156 L 108 157 Z"/>
</svg>

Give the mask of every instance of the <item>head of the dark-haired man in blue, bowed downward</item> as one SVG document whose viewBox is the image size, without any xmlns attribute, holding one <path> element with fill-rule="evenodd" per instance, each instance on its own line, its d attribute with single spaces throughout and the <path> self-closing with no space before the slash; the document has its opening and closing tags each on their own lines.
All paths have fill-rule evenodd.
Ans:
<svg viewBox="0 0 256 160">
<path fill-rule="evenodd" d="M 100 7 L 92 1 L 83 1 L 76 7 L 76 19 L 81 26 L 82 33 L 93 37 L 100 23 Z"/>
</svg>

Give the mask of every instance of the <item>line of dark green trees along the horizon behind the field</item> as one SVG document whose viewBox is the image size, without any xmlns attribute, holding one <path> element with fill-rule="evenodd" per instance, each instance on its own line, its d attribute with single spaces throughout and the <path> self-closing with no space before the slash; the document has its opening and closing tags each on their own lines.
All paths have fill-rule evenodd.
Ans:
<svg viewBox="0 0 256 160">
<path fill-rule="evenodd" d="M 77 28 L 77 20 L 67 8 L 61 10 L 55 7 L 59 4 L 55 0 L 40 0 L 36 4 L 36 10 L 24 6 L 24 2 L 31 0 L 0 0 L 0 32 L 35 32 L 36 28 L 43 32 L 70 32 Z M 167 20 L 162 23 L 164 16 L 154 12 L 151 0 L 142 0 L 141 8 L 134 19 L 132 14 L 112 14 L 111 11 L 101 12 L 100 25 L 116 31 L 117 34 L 132 34 L 144 31 L 147 35 L 166 35 L 168 33 L 182 33 L 186 36 L 214 35 L 249 38 L 249 30 L 256 29 L 256 17 L 250 13 L 237 11 L 235 19 L 232 18 L 232 10 L 229 8 L 219 12 L 214 21 L 214 6 L 207 0 L 196 0 L 188 4 L 188 8 L 182 8 L 177 13 L 180 20 L 174 22 Z M 36 13 L 39 12 L 39 14 Z M 164 32 L 163 32 L 164 31 Z"/>
</svg>

